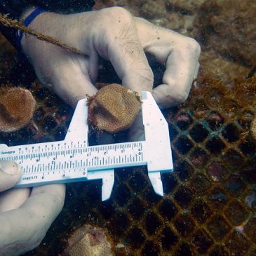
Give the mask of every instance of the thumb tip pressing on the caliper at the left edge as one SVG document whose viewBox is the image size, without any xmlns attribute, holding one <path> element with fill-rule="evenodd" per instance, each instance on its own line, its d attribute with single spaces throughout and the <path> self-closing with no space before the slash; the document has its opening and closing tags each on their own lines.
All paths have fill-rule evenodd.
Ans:
<svg viewBox="0 0 256 256">
<path fill-rule="evenodd" d="M 14 161 L 0 161 L 0 192 L 11 187 L 20 180 L 21 168 Z"/>
</svg>

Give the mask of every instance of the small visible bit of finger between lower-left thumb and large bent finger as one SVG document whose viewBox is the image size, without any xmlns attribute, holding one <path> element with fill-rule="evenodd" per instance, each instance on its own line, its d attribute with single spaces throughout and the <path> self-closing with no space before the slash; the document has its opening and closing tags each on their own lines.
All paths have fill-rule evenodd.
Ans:
<svg viewBox="0 0 256 256">
<path fill-rule="evenodd" d="M 0 213 L 8 210 L 18 209 L 27 198 L 30 189 L 9 189 L 0 194 Z"/>
</svg>

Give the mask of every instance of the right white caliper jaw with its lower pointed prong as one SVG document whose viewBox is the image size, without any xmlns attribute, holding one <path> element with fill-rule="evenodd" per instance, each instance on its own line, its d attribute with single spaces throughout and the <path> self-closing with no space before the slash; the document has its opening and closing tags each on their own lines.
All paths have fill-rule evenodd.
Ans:
<svg viewBox="0 0 256 256">
<path fill-rule="evenodd" d="M 149 180 L 156 194 L 163 196 L 161 173 L 173 171 L 168 123 L 151 93 L 143 91 L 141 98 L 145 132 L 144 155 L 147 159 Z"/>
</svg>

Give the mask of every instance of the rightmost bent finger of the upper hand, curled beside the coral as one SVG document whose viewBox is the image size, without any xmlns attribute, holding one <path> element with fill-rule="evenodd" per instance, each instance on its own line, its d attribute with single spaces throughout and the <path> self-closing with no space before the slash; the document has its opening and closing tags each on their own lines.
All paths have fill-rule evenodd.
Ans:
<svg viewBox="0 0 256 256">
<path fill-rule="evenodd" d="M 156 102 L 162 107 L 183 102 L 198 71 L 200 46 L 194 39 L 140 18 L 136 18 L 136 25 L 144 50 L 166 66 L 163 84 L 153 91 Z"/>
</svg>

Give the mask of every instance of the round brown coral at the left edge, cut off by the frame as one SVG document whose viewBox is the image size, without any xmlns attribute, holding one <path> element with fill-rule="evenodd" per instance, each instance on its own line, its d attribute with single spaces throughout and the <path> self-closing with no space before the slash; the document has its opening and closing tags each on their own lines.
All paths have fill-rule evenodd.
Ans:
<svg viewBox="0 0 256 256">
<path fill-rule="evenodd" d="M 11 85 L 0 88 L 0 130 L 10 133 L 26 126 L 36 109 L 32 93 Z"/>
</svg>

